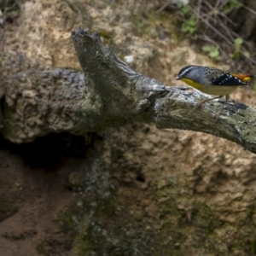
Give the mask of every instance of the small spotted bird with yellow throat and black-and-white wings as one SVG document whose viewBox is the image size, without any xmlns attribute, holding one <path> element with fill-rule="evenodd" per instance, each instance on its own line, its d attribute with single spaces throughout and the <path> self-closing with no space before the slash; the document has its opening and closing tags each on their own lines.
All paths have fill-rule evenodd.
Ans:
<svg viewBox="0 0 256 256">
<path fill-rule="evenodd" d="M 222 108 L 215 115 L 216 119 L 218 119 L 224 109 L 224 105 L 229 102 L 230 93 L 236 90 L 239 85 L 252 85 L 249 81 L 254 77 L 254 75 L 249 74 L 229 73 L 214 67 L 189 65 L 179 71 L 176 80 L 182 80 L 203 93 L 217 96 L 197 103 L 197 107 L 225 96 Z"/>
</svg>

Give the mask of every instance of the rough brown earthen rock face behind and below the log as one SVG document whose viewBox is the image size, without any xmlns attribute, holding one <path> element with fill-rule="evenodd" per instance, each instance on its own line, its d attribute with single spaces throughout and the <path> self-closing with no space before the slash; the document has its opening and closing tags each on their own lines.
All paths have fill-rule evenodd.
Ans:
<svg viewBox="0 0 256 256">
<path fill-rule="evenodd" d="M 136 1 L 24 3 L 19 18 L 0 30 L 3 110 L 7 104 L 13 108 L 9 114 L 23 115 L 33 106 L 33 88 L 24 91 L 18 83 L 15 89 L 10 75 L 48 67 L 80 68 L 70 38 L 79 26 L 102 31 L 105 40 L 111 36 L 121 54 L 135 56 L 131 65 L 138 72 L 169 84 L 176 66 L 187 64 L 184 55 L 187 61 L 206 64 L 186 43 L 174 48 L 170 38 L 145 43 L 134 35 L 139 17 L 151 8 L 153 3 Z M 170 53 L 156 55 L 157 47 L 160 53 Z M 175 66 L 171 77 L 170 65 Z M 31 98 L 31 106 L 24 108 L 17 91 Z M 52 88 L 49 95 L 54 94 Z M 248 94 L 243 94 L 244 102 L 255 104 Z M 28 121 L 34 125 L 37 118 Z M 14 127 L 15 132 L 22 129 Z M 1 140 L 0 146 L 3 255 L 253 255 L 256 251 L 256 157 L 234 143 L 134 123 L 84 137 L 51 134 L 30 144 Z"/>
</svg>

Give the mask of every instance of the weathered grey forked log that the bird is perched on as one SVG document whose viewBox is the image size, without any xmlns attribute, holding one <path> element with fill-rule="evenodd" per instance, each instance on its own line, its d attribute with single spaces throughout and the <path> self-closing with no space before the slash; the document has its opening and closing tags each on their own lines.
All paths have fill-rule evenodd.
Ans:
<svg viewBox="0 0 256 256">
<path fill-rule="evenodd" d="M 4 95 L 2 129 L 10 141 L 31 142 L 49 132 L 84 134 L 137 120 L 210 133 L 256 153 L 255 109 L 235 102 L 216 121 L 213 115 L 222 103 L 196 109 L 199 92 L 167 87 L 136 73 L 97 33 L 78 29 L 72 38 L 84 73 L 29 70 L 12 76 Z"/>
</svg>

